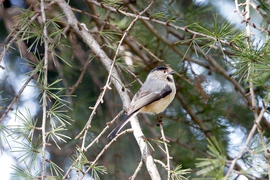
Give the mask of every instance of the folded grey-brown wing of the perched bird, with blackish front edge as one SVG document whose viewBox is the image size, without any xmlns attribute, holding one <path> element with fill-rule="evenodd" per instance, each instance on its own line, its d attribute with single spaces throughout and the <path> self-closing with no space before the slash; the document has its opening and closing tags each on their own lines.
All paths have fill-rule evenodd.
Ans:
<svg viewBox="0 0 270 180">
<path fill-rule="evenodd" d="M 135 94 L 134 98 L 131 101 L 131 104 L 128 107 L 127 114 L 134 113 L 139 110 L 141 107 L 151 104 L 155 101 L 160 100 L 161 98 L 165 98 L 172 92 L 172 88 L 168 85 L 160 84 L 160 87 L 145 85 L 147 82 L 143 84 L 143 86 L 139 89 L 139 91 Z M 157 84 L 156 84 L 157 85 Z M 146 88 L 149 87 L 149 88 Z"/>
</svg>

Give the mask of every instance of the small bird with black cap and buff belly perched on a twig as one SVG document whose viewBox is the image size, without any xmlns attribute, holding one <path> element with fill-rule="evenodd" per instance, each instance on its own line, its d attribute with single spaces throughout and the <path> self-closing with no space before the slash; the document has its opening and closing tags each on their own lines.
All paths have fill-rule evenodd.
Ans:
<svg viewBox="0 0 270 180">
<path fill-rule="evenodd" d="M 151 70 L 143 86 L 128 106 L 126 111 L 128 116 L 109 134 L 107 139 L 113 139 L 138 113 L 157 115 L 165 110 L 176 94 L 173 74 L 174 72 L 168 67 L 157 67 Z"/>
</svg>

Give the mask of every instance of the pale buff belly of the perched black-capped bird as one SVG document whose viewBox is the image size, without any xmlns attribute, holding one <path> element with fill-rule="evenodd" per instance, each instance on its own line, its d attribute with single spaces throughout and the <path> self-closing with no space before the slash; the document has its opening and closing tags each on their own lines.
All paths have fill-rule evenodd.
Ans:
<svg viewBox="0 0 270 180">
<path fill-rule="evenodd" d="M 159 101 L 155 101 L 151 104 L 148 104 L 144 107 L 141 107 L 140 113 L 148 113 L 148 114 L 158 114 L 161 113 L 165 108 L 172 102 L 175 93 L 171 93 L 165 98 L 161 98 Z"/>
</svg>

